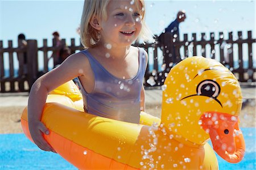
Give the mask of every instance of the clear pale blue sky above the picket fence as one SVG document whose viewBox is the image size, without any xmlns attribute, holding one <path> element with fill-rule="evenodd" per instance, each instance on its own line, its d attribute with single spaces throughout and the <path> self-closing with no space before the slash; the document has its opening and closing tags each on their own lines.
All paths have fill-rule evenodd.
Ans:
<svg viewBox="0 0 256 170">
<path fill-rule="evenodd" d="M 20 32 L 27 39 L 43 39 L 51 45 L 53 31 L 70 44 L 76 38 L 79 45 L 79 27 L 83 1 L 10 1 L 0 0 L 0 40 L 7 47 L 7 40 L 17 45 Z M 255 0 L 245 1 L 148 1 L 146 0 L 146 23 L 154 34 L 159 35 L 175 19 L 177 11 L 185 10 L 187 19 L 180 24 L 180 34 L 193 32 L 253 31 L 255 38 Z M 236 36 L 234 36 L 236 37 Z M 224 37 L 225 39 L 225 37 Z"/>
</svg>

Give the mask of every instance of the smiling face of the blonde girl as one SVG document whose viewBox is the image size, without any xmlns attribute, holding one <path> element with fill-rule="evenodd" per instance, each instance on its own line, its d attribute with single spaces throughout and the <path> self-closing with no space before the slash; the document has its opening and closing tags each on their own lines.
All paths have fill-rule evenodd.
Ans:
<svg viewBox="0 0 256 170">
<path fill-rule="evenodd" d="M 101 41 L 111 45 L 130 45 L 141 32 L 141 5 L 133 0 L 110 0 L 107 18 L 100 19 Z"/>
</svg>

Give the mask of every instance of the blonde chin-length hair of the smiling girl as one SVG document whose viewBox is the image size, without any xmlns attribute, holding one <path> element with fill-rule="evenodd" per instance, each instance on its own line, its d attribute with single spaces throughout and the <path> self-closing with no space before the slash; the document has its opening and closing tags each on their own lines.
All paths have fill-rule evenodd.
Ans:
<svg viewBox="0 0 256 170">
<path fill-rule="evenodd" d="M 94 47 L 98 41 L 100 40 L 100 35 L 98 31 L 90 25 L 90 19 L 93 16 L 97 16 L 98 18 L 107 18 L 106 8 L 109 4 L 110 0 L 85 0 L 84 1 L 84 9 L 82 11 L 81 24 L 80 24 L 80 38 L 81 43 L 85 48 Z M 134 0 L 135 5 L 139 8 L 139 2 L 141 2 L 141 22 L 142 22 L 142 30 L 138 36 L 137 42 L 142 40 L 144 42 L 154 42 L 152 38 L 152 32 L 147 27 L 145 23 L 145 3 L 144 0 Z"/>
</svg>

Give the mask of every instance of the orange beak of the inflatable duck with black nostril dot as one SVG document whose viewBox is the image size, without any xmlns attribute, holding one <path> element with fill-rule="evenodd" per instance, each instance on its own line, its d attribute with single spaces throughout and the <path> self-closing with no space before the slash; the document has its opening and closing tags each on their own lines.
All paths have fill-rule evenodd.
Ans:
<svg viewBox="0 0 256 170">
<path fill-rule="evenodd" d="M 210 111 L 201 115 L 201 126 L 209 133 L 213 150 L 229 163 L 238 163 L 245 155 L 245 139 L 238 117 Z"/>
</svg>

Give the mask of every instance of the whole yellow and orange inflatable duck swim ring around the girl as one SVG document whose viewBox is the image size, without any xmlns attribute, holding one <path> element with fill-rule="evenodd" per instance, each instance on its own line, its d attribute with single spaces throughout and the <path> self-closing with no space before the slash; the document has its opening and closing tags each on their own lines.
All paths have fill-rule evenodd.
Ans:
<svg viewBox="0 0 256 170">
<path fill-rule="evenodd" d="M 230 163 L 242 160 L 242 96 L 229 69 L 188 57 L 171 69 L 162 89 L 161 119 L 141 113 L 141 123 L 133 124 L 84 113 L 79 90 L 67 82 L 48 95 L 44 138 L 79 169 L 218 169 L 214 151 Z M 32 141 L 27 109 L 21 123 Z"/>
</svg>

